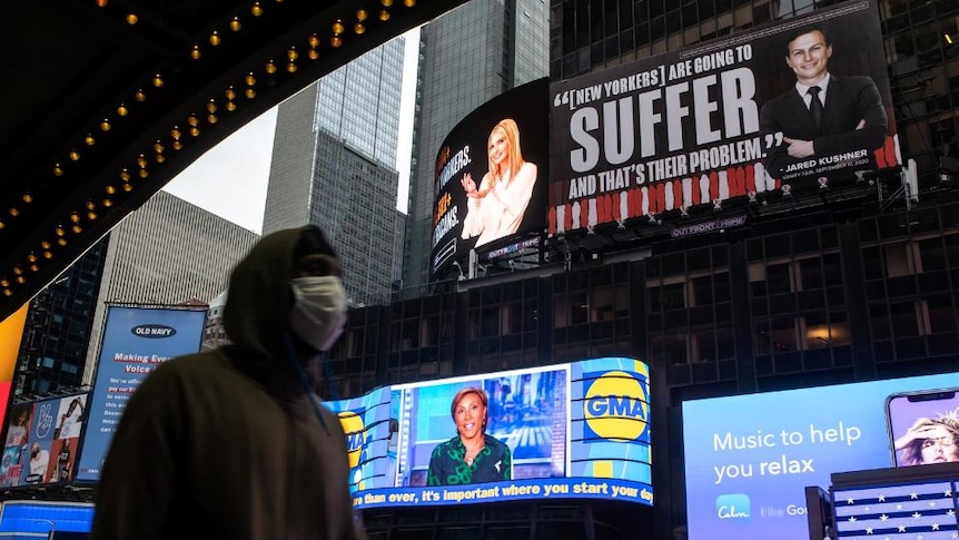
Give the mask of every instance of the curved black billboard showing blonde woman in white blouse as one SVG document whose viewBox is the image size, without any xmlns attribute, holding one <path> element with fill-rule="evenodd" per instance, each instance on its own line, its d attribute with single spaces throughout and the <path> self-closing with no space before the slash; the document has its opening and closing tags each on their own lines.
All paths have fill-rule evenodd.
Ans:
<svg viewBox="0 0 959 540">
<path fill-rule="evenodd" d="M 547 79 L 487 101 L 449 131 L 434 169 L 431 275 L 469 251 L 515 243 L 546 226 Z"/>
</svg>

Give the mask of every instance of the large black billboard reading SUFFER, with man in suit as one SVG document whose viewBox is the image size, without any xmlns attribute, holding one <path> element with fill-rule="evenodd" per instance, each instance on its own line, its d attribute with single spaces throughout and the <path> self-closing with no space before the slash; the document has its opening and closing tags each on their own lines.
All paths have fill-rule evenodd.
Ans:
<svg viewBox="0 0 959 540">
<path fill-rule="evenodd" d="M 899 166 L 883 51 L 851 1 L 551 85 L 550 232 Z"/>
</svg>

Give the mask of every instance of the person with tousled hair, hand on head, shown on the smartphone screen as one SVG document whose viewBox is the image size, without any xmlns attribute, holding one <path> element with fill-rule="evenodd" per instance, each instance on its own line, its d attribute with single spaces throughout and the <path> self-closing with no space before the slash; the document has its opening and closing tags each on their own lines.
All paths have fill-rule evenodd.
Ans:
<svg viewBox="0 0 959 540">
<path fill-rule="evenodd" d="M 922 465 L 959 461 L 959 410 L 920 418 L 896 440 L 900 464 Z"/>
</svg>

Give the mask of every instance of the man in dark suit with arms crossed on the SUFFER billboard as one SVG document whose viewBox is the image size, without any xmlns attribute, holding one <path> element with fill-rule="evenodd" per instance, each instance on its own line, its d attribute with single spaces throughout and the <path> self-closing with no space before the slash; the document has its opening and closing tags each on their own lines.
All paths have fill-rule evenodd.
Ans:
<svg viewBox="0 0 959 540">
<path fill-rule="evenodd" d="M 869 165 L 886 140 L 887 117 L 870 77 L 837 77 L 828 69 L 832 43 L 820 28 L 790 37 L 785 63 L 795 72 L 795 88 L 768 101 L 760 110 L 760 131 L 777 143 L 763 164 L 770 176 L 789 183 L 840 171 L 843 161 Z M 780 141 L 781 134 L 781 141 Z M 850 156 L 859 156 L 850 159 Z M 844 174 L 852 176 L 850 169 Z"/>
</svg>

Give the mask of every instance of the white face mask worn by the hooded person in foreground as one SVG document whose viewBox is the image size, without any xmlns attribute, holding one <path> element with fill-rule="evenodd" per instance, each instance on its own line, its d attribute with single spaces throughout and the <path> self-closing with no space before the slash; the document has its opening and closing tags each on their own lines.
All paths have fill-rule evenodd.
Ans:
<svg viewBox="0 0 959 540">
<path fill-rule="evenodd" d="M 294 305 L 290 328 L 317 351 L 328 351 L 346 325 L 346 292 L 336 276 L 305 276 L 290 281 Z"/>
</svg>

